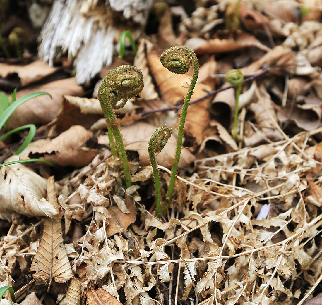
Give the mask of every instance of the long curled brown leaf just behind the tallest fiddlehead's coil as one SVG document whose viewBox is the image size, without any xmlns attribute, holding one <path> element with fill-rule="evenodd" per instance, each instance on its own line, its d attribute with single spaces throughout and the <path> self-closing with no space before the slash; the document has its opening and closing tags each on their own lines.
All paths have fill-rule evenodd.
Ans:
<svg viewBox="0 0 322 305">
<path fill-rule="evenodd" d="M 232 52 L 243 48 L 257 47 L 263 51 L 270 51 L 270 48 L 263 45 L 253 35 L 242 32 L 236 39 L 214 38 L 204 40 L 202 38 L 190 38 L 185 42 L 185 47 L 194 51 L 196 55 Z"/>
</svg>

